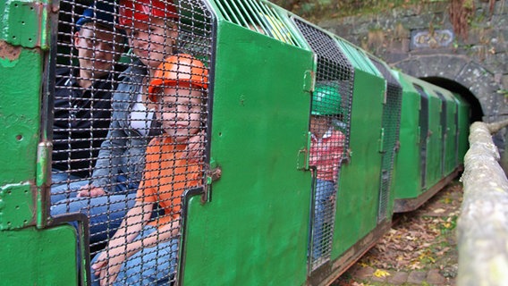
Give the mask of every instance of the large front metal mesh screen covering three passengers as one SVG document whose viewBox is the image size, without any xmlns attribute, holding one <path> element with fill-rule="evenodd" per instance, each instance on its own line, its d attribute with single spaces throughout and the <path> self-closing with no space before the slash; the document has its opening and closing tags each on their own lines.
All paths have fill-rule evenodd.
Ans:
<svg viewBox="0 0 508 286">
<path fill-rule="evenodd" d="M 212 20 L 199 0 L 60 1 L 50 215 L 89 217 L 92 282 L 176 279 L 182 194 L 206 171 Z"/>
</svg>

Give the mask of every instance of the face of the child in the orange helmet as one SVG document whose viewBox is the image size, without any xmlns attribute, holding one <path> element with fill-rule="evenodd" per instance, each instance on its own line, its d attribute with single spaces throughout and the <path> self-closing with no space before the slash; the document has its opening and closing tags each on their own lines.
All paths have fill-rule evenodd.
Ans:
<svg viewBox="0 0 508 286">
<path fill-rule="evenodd" d="M 201 91 L 166 87 L 160 97 L 157 117 L 167 135 L 183 142 L 199 132 L 203 107 Z"/>
</svg>

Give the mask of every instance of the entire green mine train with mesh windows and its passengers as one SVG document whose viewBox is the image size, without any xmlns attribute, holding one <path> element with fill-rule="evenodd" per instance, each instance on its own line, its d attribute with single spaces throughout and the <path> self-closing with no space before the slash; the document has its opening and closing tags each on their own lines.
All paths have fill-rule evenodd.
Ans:
<svg viewBox="0 0 508 286">
<path fill-rule="evenodd" d="M 2 285 L 326 285 L 461 170 L 461 95 L 275 4 L 1 5 Z"/>
</svg>

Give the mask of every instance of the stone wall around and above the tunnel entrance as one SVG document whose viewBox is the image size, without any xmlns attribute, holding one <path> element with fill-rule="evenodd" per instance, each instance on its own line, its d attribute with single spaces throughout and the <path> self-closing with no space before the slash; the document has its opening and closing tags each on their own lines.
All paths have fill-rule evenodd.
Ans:
<svg viewBox="0 0 508 286">
<path fill-rule="evenodd" d="M 327 19 L 318 25 L 418 78 L 470 92 L 475 120 L 508 117 L 508 3 L 475 1 L 468 37 L 455 33 L 450 1 L 388 13 Z M 503 153 L 505 131 L 495 143 Z"/>
</svg>

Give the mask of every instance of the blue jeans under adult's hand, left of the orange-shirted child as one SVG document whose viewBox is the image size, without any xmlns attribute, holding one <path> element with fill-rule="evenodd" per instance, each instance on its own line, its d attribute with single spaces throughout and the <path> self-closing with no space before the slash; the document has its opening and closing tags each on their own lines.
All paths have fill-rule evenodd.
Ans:
<svg viewBox="0 0 508 286">
<path fill-rule="evenodd" d="M 125 214 L 136 203 L 135 190 L 138 186 L 127 184 L 127 178 L 123 175 L 117 176 L 116 181 L 120 183 L 114 186 L 113 192 L 94 198 L 76 198 L 78 190 L 89 181 L 75 181 L 55 186 L 51 189 L 51 215 L 86 214 L 89 217 L 90 243 L 107 240 L 114 235 Z M 75 222 L 72 225 L 76 228 L 78 226 Z"/>
</svg>

